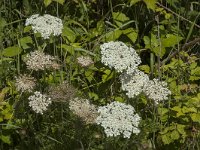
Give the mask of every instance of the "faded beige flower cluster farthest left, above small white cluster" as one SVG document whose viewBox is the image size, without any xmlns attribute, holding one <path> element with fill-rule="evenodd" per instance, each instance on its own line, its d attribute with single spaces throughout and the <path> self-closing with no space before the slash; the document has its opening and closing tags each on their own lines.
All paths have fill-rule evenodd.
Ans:
<svg viewBox="0 0 200 150">
<path fill-rule="evenodd" d="M 15 86 L 17 91 L 31 92 L 35 87 L 35 79 L 26 74 L 20 75 L 19 77 L 16 77 Z"/>
</svg>

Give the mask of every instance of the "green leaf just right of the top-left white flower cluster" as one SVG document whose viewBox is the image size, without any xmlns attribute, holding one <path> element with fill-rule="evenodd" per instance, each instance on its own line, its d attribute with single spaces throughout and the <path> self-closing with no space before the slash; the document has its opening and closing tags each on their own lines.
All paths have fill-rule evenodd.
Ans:
<svg viewBox="0 0 200 150">
<path fill-rule="evenodd" d="M 64 26 L 62 36 L 66 37 L 69 43 L 74 43 L 76 40 L 76 33 L 67 26 Z"/>
</svg>

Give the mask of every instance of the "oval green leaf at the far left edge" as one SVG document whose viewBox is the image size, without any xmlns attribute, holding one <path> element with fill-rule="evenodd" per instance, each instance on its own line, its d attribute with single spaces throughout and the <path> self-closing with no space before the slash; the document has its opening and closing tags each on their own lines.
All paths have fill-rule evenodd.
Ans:
<svg viewBox="0 0 200 150">
<path fill-rule="evenodd" d="M 6 57 L 14 57 L 19 55 L 22 52 L 22 49 L 19 48 L 18 46 L 12 46 L 4 49 L 2 51 L 2 54 Z"/>
</svg>

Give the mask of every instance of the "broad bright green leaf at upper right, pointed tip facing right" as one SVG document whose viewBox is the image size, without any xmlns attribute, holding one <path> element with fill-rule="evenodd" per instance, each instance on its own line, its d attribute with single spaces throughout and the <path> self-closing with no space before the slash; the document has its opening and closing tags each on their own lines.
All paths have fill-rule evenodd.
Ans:
<svg viewBox="0 0 200 150">
<path fill-rule="evenodd" d="M 173 47 L 178 44 L 183 38 L 178 35 L 167 34 L 166 38 L 161 38 L 161 43 L 163 47 Z"/>
</svg>

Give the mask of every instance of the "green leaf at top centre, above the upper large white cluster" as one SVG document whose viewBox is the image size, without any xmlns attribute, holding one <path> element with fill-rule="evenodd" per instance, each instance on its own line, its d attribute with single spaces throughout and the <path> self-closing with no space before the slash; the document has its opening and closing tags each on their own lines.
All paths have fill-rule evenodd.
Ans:
<svg viewBox="0 0 200 150">
<path fill-rule="evenodd" d="M 130 19 L 121 12 L 113 12 L 112 13 L 113 20 L 118 27 L 121 27 L 125 22 L 129 21 Z"/>
</svg>

